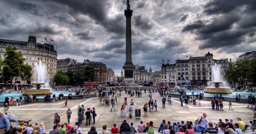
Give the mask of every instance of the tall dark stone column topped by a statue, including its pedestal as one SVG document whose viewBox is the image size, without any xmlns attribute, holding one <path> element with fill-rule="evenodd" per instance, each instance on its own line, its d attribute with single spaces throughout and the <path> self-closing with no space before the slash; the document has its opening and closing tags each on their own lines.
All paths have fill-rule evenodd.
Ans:
<svg viewBox="0 0 256 134">
<path fill-rule="evenodd" d="M 136 86 L 135 80 L 133 78 L 133 71 L 135 66 L 132 63 L 132 34 L 131 34 L 131 17 L 132 10 L 130 9 L 129 0 L 127 0 L 126 5 L 127 8 L 124 10 L 124 15 L 126 17 L 126 45 L 125 45 L 125 54 L 126 59 L 123 66 L 124 69 L 124 82 L 128 84 L 128 86 Z M 129 83 L 128 83 L 129 82 Z"/>
</svg>

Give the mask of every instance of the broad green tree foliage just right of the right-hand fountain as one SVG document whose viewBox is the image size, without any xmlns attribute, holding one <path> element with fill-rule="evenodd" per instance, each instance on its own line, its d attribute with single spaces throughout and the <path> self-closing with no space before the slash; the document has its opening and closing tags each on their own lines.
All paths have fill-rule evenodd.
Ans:
<svg viewBox="0 0 256 134">
<path fill-rule="evenodd" d="M 239 82 L 244 85 L 244 80 L 249 77 L 251 60 L 231 62 L 229 68 L 225 70 L 225 79 L 229 82 Z"/>
</svg>

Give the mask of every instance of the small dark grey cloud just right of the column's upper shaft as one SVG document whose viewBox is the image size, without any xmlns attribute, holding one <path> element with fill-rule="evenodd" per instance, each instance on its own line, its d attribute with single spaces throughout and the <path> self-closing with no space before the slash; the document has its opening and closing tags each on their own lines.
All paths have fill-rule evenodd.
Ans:
<svg viewBox="0 0 256 134">
<path fill-rule="evenodd" d="M 143 30 L 150 30 L 154 27 L 154 24 L 150 19 L 143 19 L 141 15 L 135 16 L 135 25 Z"/>
</svg>

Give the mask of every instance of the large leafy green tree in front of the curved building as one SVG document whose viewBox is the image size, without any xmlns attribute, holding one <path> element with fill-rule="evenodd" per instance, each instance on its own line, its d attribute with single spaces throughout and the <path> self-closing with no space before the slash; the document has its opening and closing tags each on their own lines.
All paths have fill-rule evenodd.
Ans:
<svg viewBox="0 0 256 134">
<path fill-rule="evenodd" d="M 1 72 L 1 80 L 4 83 L 7 83 L 10 81 L 12 87 L 12 80 L 14 77 L 22 77 L 22 80 L 29 80 L 32 76 L 30 65 L 25 65 L 24 61 L 25 58 L 22 57 L 22 52 L 17 51 L 17 47 L 11 47 L 7 46 L 5 49 L 5 59 L 3 61 L 3 70 Z M 26 67 L 28 70 L 23 69 L 23 67 Z"/>
</svg>

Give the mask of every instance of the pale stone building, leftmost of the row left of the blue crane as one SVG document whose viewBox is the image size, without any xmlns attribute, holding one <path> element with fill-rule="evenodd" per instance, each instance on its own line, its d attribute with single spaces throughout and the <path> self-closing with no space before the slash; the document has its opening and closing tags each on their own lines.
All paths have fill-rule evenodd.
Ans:
<svg viewBox="0 0 256 134">
<path fill-rule="evenodd" d="M 176 64 L 162 64 L 161 66 L 161 82 L 176 83 Z"/>
</svg>

